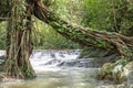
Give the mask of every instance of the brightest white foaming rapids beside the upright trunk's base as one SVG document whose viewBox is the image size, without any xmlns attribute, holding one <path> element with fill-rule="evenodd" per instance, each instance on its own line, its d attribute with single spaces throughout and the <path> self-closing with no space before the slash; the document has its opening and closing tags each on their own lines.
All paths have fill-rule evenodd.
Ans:
<svg viewBox="0 0 133 88">
<path fill-rule="evenodd" d="M 33 51 L 30 61 L 37 73 L 58 70 L 60 69 L 58 65 L 63 62 L 76 59 L 79 53 L 79 51 Z"/>
</svg>

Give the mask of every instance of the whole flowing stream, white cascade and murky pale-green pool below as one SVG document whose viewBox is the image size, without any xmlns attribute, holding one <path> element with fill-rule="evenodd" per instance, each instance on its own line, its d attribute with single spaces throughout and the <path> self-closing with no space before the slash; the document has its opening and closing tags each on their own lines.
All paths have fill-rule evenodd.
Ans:
<svg viewBox="0 0 133 88">
<path fill-rule="evenodd" d="M 93 58 L 79 59 L 79 50 L 33 51 L 30 61 L 37 78 L 0 82 L 0 88 L 96 88 L 102 85 L 96 80 L 99 68 L 94 67 Z"/>
</svg>

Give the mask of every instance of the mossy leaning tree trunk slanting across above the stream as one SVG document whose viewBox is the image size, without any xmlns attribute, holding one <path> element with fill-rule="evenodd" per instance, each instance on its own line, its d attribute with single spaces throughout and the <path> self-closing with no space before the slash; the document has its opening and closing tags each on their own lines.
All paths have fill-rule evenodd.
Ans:
<svg viewBox="0 0 133 88">
<path fill-rule="evenodd" d="M 41 21 L 48 23 L 64 37 L 80 43 L 84 46 L 94 46 L 110 50 L 119 55 L 133 57 L 133 37 L 119 33 L 93 31 L 81 26 L 73 26 L 66 21 L 52 13 L 40 0 L 29 0 L 33 14 Z"/>
</svg>

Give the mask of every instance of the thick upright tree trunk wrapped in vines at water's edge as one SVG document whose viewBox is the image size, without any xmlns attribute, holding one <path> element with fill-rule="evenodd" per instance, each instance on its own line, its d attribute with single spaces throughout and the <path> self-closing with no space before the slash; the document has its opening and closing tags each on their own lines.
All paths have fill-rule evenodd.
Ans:
<svg viewBox="0 0 133 88">
<path fill-rule="evenodd" d="M 33 78 L 29 57 L 32 52 L 32 21 L 30 8 L 23 0 L 11 0 L 10 21 L 7 29 L 6 75 L 14 78 Z"/>
</svg>

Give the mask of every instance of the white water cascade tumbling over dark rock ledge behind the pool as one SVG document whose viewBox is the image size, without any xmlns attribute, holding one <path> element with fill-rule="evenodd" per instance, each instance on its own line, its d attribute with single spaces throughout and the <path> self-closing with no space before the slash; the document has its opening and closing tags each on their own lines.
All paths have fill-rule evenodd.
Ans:
<svg viewBox="0 0 133 88">
<path fill-rule="evenodd" d="M 78 59 L 80 50 L 71 51 L 33 51 L 30 61 L 37 72 L 59 67 L 92 67 L 92 58 Z"/>
</svg>

